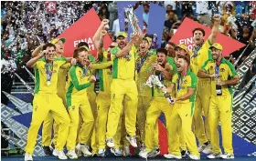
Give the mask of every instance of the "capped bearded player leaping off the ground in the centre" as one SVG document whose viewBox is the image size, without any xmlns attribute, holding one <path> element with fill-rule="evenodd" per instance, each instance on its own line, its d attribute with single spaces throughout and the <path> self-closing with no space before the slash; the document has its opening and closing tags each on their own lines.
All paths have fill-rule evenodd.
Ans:
<svg viewBox="0 0 256 161">
<path fill-rule="evenodd" d="M 140 28 L 134 22 L 138 31 Z M 112 48 L 112 86 L 111 86 L 111 107 L 109 110 L 106 142 L 107 146 L 114 147 L 113 136 L 116 134 L 117 126 L 121 114 L 125 116 L 126 139 L 133 147 L 136 143 L 136 115 L 138 104 L 138 91 L 133 79 L 135 71 L 135 55 L 137 49 L 134 45 L 139 45 L 142 39 L 142 32 L 132 35 L 131 41 L 127 42 L 127 34 L 120 32 L 117 34 L 117 47 Z M 123 98 L 128 98 L 128 108 L 123 112 Z"/>
</svg>

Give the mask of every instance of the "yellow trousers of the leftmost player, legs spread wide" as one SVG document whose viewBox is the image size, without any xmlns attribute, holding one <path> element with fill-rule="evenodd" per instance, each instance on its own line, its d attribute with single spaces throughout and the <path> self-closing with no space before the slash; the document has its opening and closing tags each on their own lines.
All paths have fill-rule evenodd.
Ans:
<svg viewBox="0 0 256 161">
<path fill-rule="evenodd" d="M 63 106 L 62 100 L 59 96 L 37 94 L 34 96 L 32 120 L 27 133 L 27 153 L 33 154 L 38 130 L 49 112 L 59 125 L 59 137 L 56 149 L 63 150 L 69 133 L 70 120 L 68 112 Z"/>
</svg>

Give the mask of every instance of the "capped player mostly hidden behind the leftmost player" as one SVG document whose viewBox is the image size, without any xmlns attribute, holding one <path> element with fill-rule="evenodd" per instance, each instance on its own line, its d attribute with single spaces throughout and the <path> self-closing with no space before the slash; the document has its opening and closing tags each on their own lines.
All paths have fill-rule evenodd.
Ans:
<svg viewBox="0 0 256 161">
<path fill-rule="evenodd" d="M 65 38 L 55 38 L 51 41 L 51 43 L 53 45 L 56 46 L 56 57 L 64 57 L 64 43 L 66 42 Z M 39 45 L 32 53 L 32 56 L 35 57 L 38 55 L 39 51 L 42 49 L 43 45 Z M 69 57 L 68 59 L 72 59 L 71 57 Z M 75 61 L 72 62 L 73 64 L 75 63 Z M 62 99 L 64 106 L 66 106 L 66 77 L 68 75 L 69 72 L 69 67 L 70 64 L 65 64 L 65 65 L 61 65 L 61 68 L 59 68 L 59 78 L 58 78 L 58 84 L 57 84 L 57 94 L 58 96 Z M 52 149 L 55 148 L 55 145 L 57 144 L 57 137 L 58 137 L 58 131 L 59 131 L 59 127 L 57 124 L 53 124 L 53 117 L 51 116 L 51 114 L 48 114 L 48 117 L 46 118 L 46 120 L 44 121 L 43 124 L 43 129 L 42 129 L 42 145 L 45 151 L 46 155 L 51 155 L 52 152 L 50 150 L 50 147 Z M 52 136 L 52 126 L 53 126 L 53 130 L 54 130 L 54 138 L 52 140 L 52 144 L 51 143 L 51 136 Z M 56 156 L 56 153 L 53 154 L 54 156 Z"/>
</svg>

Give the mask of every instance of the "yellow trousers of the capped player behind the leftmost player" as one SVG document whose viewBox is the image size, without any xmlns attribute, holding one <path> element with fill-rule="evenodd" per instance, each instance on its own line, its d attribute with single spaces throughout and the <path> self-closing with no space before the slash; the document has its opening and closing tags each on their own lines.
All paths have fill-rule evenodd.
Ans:
<svg viewBox="0 0 256 161">
<path fill-rule="evenodd" d="M 61 98 L 63 105 L 66 107 L 66 91 L 58 92 L 58 96 Z M 66 108 L 65 108 L 66 109 Z M 51 113 L 48 114 L 47 118 L 44 120 L 43 128 L 42 128 L 42 145 L 50 146 L 51 136 L 52 136 L 52 127 L 54 131 L 53 136 L 53 144 L 56 145 L 58 138 L 59 126 L 54 122 L 53 116 Z"/>
</svg>

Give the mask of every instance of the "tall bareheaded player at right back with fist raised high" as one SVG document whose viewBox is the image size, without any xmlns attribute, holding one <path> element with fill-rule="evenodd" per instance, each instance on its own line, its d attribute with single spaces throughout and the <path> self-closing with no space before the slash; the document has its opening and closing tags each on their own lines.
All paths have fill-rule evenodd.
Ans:
<svg viewBox="0 0 256 161">
<path fill-rule="evenodd" d="M 215 43 L 217 34 L 219 33 L 220 16 L 214 15 L 213 20 L 214 25 L 211 29 L 211 35 L 208 36 L 206 42 L 204 42 L 205 31 L 202 28 L 195 28 L 193 30 L 193 41 L 195 43 L 195 47 L 192 50 L 190 61 L 191 69 L 196 75 L 203 63 L 211 58 L 211 54 L 208 48 L 210 45 Z M 199 142 L 198 151 L 208 154 L 211 152 L 211 146 L 209 142 L 210 133 L 208 126 L 208 106 L 211 94 L 210 90 L 206 89 L 210 89 L 210 79 L 198 78 L 197 101 L 195 105 L 193 126 L 195 127 L 195 134 Z M 202 118 L 202 112 L 205 116 L 205 124 Z"/>
</svg>

